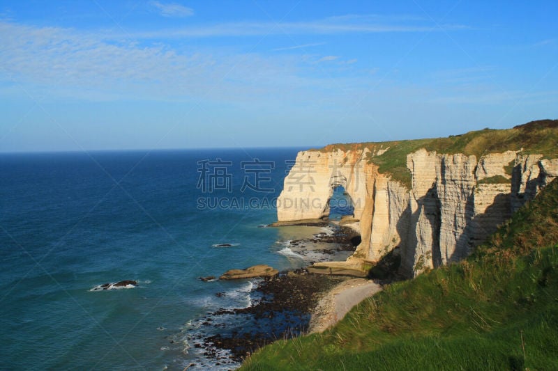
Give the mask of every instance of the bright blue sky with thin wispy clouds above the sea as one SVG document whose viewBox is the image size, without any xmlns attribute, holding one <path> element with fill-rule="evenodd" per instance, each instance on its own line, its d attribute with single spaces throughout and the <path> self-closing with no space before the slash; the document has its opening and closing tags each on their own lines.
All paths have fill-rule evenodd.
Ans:
<svg viewBox="0 0 558 371">
<path fill-rule="evenodd" d="M 1 1 L 0 152 L 316 146 L 558 118 L 557 1 Z"/>
</svg>

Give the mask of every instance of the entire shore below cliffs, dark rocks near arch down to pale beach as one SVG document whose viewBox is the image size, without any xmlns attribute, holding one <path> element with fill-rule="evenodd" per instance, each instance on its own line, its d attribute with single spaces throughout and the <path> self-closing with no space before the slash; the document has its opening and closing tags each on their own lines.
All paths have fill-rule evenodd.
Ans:
<svg viewBox="0 0 558 371">
<path fill-rule="evenodd" d="M 296 259 L 307 263 L 306 267 L 250 278 L 255 281 L 247 292 L 251 297 L 249 306 L 220 309 L 202 317 L 199 320 L 202 327 L 218 331 L 212 334 L 204 331 L 201 336 L 188 340 L 206 358 L 206 361 L 198 359 L 193 368 L 237 367 L 257 349 L 278 339 L 325 331 L 356 304 L 382 290 L 378 281 L 308 269 L 316 260 L 335 261 L 340 258 L 338 254 L 354 251 L 359 240 L 354 229 L 338 223 L 330 223 L 329 232 L 317 230 L 307 237 L 287 239 L 287 258 L 296 255 Z"/>
</svg>

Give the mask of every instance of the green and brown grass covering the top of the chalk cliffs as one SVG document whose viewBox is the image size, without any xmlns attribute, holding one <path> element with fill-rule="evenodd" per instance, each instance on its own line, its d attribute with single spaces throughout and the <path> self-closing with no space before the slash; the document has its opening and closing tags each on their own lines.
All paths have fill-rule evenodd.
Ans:
<svg viewBox="0 0 558 371">
<path fill-rule="evenodd" d="M 538 120 L 512 129 L 483 129 L 467 134 L 451 135 L 448 138 L 332 144 L 322 148 L 322 151 L 368 148 L 370 150 L 368 161 L 377 164 L 380 173 L 390 173 L 393 180 L 410 187 L 411 173 L 407 169 L 407 155 L 421 148 L 438 153 L 475 155 L 477 160 L 482 155 L 507 150 L 522 150 L 525 154 L 538 153 L 555 158 L 558 157 L 557 143 L 558 120 Z M 386 152 L 374 155 L 379 150 L 386 150 Z"/>
</svg>

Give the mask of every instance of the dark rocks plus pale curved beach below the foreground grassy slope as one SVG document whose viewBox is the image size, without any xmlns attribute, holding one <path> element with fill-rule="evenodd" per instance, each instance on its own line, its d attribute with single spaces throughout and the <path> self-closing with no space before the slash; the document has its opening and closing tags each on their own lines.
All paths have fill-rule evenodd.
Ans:
<svg viewBox="0 0 558 371">
<path fill-rule="evenodd" d="M 282 271 L 259 281 L 251 292 L 259 292 L 262 297 L 251 306 L 219 310 L 204 319 L 206 325 L 218 325 L 216 316 L 219 315 L 250 318 L 244 323 L 252 330 L 236 329 L 228 335 L 217 333 L 199 339 L 195 347 L 205 349 L 206 356 L 213 359 L 213 366 L 238 367 L 253 352 L 271 342 L 329 329 L 356 304 L 381 290 L 381 284 L 366 278 L 312 274 L 306 269 Z M 218 349 L 230 353 L 223 354 Z"/>
</svg>

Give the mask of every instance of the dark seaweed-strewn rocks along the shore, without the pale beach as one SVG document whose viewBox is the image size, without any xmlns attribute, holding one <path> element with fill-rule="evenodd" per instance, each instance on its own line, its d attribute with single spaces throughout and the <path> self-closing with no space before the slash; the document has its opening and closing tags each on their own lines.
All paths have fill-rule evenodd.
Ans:
<svg viewBox="0 0 558 371">
<path fill-rule="evenodd" d="M 314 258 L 316 253 L 320 253 L 320 260 L 324 261 L 331 260 L 338 251 L 354 251 L 360 242 L 360 236 L 352 228 L 330 224 L 329 229 L 331 232 L 319 232 L 308 238 L 289 241 L 289 247 L 300 255 L 304 255 L 306 249 L 310 248 L 312 255 L 308 258 Z M 328 248 L 329 244 L 332 244 L 331 248 Z M 312 249 L 312 246 L 317 245 L 326 248 Z M 308 264 L 312 263 L 313 261 L 308 260 Z M 236 269 L 234 271 L 236 272 Z M 245 326 L 223 328 L 224 331 L 199 339 L 193 346 L 205 349 L 204 356 L 216 361 L 216 365 L 240 363 L 259 347 L 279 339 L 307 333 L 312 312 L 317 308 L 319 301 L 333 287 L 351 278 L 312 274 L 306 268 L 273 273 L 271 276 L 262 275 L 263 277 L 259 278 L 260 281 L 252 289 L 255 297 L 259 299 L 248 308 L 222 309 L 204 317 L 205 326 L 216 326 L 214 323 L 218 321 L 214 319 L 227 315 L 243 317 Z M 208 278 L 200 279 L 207 281 Z M 222 293 L 216 293 L 218 296 L 220 294 Z M 224 357 L 221 350 L 229 351 L 230 355 Z"/>
</svg>

